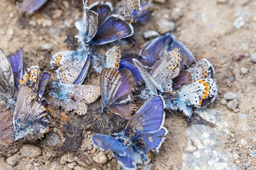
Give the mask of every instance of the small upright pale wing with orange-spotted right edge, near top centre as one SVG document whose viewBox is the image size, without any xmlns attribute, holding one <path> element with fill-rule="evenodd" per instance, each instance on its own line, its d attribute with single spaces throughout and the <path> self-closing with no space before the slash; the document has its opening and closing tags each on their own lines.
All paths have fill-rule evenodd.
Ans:
<svg viewBox="0 0 256 170">
<path fill-rule="evenodd" d="M 119 62 L 121 58 L 120 46 L 113 46 L 106 53 L 106 67 L 107 68 L 119 68 Z"/>
</svg>

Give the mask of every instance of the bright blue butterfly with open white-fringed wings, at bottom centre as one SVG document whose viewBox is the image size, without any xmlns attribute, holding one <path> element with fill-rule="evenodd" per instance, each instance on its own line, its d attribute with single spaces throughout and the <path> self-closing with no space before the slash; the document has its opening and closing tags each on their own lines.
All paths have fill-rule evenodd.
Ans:
<svg viewBox="0 0 256 170">
<path fill-rule="evenodd" d="M 94 147 L 110 150 L 124 169 L 137 169 L 137 156 L 148 161 L 149 150 L 159 152 L 168 130 L 163 127 L 165 108 L 162 96 L 154 96 L 135 113 L 125 129 L 116 137 L 95 134 Z"/>
</svg>

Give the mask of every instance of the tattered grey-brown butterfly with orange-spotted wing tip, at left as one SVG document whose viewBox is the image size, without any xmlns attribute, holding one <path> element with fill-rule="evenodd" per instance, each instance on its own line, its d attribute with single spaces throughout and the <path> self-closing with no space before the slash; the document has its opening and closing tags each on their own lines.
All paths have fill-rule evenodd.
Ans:
<svg viewBox="0 0 256 170">
<path fill-rule="evenodd" d="M 38 66 L 32 66 L 20 79 L 19 93 L 13 115 L 14 141 L 34 141 L 49 129 L 46 108 L 41 102 L 51 74 L 44 72 L 41 77 Z"/>
</svg>

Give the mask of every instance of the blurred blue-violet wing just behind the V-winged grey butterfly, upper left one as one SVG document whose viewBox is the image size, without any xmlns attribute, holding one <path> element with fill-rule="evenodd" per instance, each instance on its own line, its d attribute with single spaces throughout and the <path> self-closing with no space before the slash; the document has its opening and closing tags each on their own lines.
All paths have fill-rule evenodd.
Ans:
<svg viewBox="0 0 256 170">
<path fill-rule="evenodd" d="M 146 42 L 144 49 L 139 54 L 143 57 L 143 59 L 140 59 L 140 62 L 143 65 L 152 67 L 157 60 L 166 57 L 172 51 L 172 42 L 173 39 L 169 33 Z"/>
</svg>

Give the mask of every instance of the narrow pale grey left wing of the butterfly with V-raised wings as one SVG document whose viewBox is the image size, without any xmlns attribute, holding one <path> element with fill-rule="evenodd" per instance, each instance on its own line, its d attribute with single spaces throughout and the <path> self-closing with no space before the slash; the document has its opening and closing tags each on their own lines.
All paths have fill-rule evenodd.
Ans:
<svg viewBox="0 0 256 170">
<path fill-rule="evenodd" d="M 151 94 L 157 94 L 158 91 L 161 91 L 162 89 L 160 85 L 154 79 L 152 79 L 152 77 L 148 74 L 148 71 L 146 71 L 146 69 L 143 67 L 142 63 L 137 59 L 133 59 L 133 61 L 134 65 L 139 69 L 148 89 L 151 91 Z"/>
</svg>

